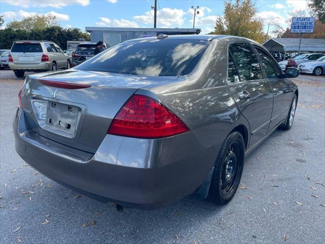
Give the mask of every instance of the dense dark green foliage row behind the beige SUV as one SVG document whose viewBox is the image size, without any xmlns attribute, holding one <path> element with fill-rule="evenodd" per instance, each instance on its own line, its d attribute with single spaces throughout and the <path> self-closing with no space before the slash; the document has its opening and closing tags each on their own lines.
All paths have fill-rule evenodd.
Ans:
<svg viewBox="0 0 325 244">
<path fill-rule="evenodd" d="M 67 41 L 78 40 L 84 38 L 90 40 L 88 33 L 81 32 L 78 28 L 64 29 L 60 26 L 46 27 L 45 29 L 13 29 L 6 27 L 0 29 L 0 49 L 10 49 L 14 41 L 19 40 L 46 40 L 55 42 L 62 49 L 67 48 Z"/>
</svg>

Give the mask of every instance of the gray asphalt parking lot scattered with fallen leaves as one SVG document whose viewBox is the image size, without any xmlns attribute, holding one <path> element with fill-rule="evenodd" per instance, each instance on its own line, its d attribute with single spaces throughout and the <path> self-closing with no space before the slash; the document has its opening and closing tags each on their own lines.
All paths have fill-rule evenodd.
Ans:
<svg viewBox="0 0 325 244">
<path fill-rule="evenodd" d="M 325 76 L 300 75 L 294 126 L 245 160 L 226 206 L 188 197 L 157 210 L 124 209 L 62 187 L 14 149 L 23 79 L 0 71 L 1 243 L 324 243 Z"/>
</svg>

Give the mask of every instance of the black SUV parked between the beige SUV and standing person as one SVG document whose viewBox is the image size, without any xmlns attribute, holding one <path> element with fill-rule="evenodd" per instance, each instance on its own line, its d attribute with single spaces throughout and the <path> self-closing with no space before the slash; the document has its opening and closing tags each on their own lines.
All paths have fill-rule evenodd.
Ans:
<svg viewBox="0 0 325 244">
<path fill-rule="evenodd" d="M 89 58 L 94 56 L 94 51 L 96 48 L 95 42 L 83 42 L 78 44 L 76 50 L 72 53 L 72 63 L 73 66 L 79 65 Z M 106 44 L 104 43 L 104 50 L 106 49 Z M 103 51 L 104 51 L 103 50 Z"/>
</svg>

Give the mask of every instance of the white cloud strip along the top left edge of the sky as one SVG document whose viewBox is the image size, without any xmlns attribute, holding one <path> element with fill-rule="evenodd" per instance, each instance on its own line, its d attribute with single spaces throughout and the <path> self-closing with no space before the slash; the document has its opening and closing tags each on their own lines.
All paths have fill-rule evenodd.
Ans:
<svg viewBox="0 0 325 244">
<path fill-rule="evenodd" d="M 60 9 L 62 7 L 66 7 L 68 5 L 81 5 L 83 7 L 90 4 L 90 0 L 2 0 L 2 2 L 7 3 L 9 5 L 18 6 L 20 8 L 56 8 Z"/>
</svg>

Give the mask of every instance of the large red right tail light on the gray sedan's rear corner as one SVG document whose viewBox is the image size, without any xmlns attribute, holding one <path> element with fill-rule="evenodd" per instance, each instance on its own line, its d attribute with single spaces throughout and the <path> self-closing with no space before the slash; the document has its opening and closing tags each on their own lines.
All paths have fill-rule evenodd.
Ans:
<svg viewBox="0 0 325 244">
<path fill-rule="evenodd" d="M 189 131 L 183 121 L 163 104 L 143 95 L 133 95 L 114 117 L 108 134 L 163 138 Z"/>
</svg>

